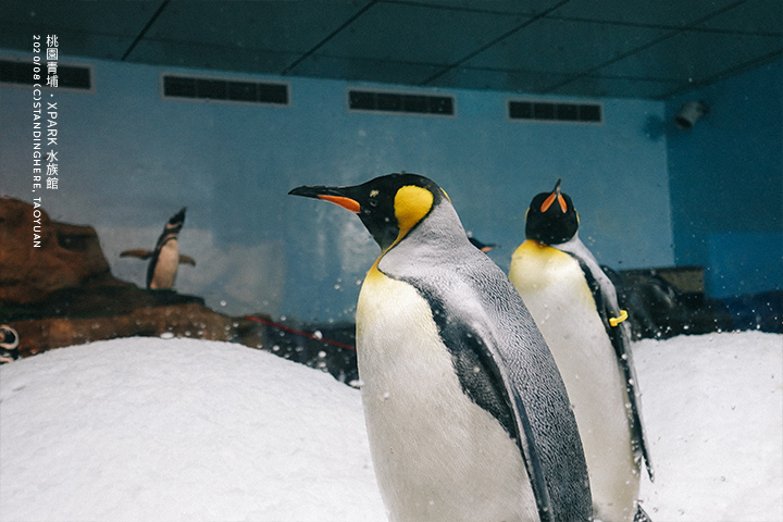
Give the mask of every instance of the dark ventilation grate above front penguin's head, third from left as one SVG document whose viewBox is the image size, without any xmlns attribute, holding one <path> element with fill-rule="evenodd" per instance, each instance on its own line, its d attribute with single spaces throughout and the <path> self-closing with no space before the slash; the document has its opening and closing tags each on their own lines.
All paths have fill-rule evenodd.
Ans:
<svg viewBox="0 0 783 522">
<path fill-rule="evenodd" d="M 410 95 L 402 92 L 349 90 L 348 107 L 352 111 L 400 112 L 450 116 L 455 112 L 451 96 Z"/>
</svg>

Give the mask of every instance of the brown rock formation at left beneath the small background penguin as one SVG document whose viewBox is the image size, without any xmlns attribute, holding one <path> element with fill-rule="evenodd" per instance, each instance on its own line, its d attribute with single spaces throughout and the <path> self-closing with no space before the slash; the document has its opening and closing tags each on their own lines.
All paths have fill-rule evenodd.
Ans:
<svg viewBox="0 0 783 522">
<path fill-rule="evenodd" d="M 115 278 L 91 226 L 58 223 L 44 209 L 0 198 L 0 322 L 18 332 L 22 357 L 166 333 L 264 344 L 264 328 L 216 313 L 199 297 Z"/>
</svg>

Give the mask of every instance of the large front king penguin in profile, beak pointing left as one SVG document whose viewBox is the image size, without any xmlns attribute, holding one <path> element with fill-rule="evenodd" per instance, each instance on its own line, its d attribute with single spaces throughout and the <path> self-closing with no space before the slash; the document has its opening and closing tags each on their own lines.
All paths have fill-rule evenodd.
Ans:
<svg viewBox="0 0 783 522">
<path fill-rule="evenodd" d="M 434 182 L 289 194 L 359 215 L 381 247 L 357 304 L 370 449 L 393 522 L 588 521 L 584 453 L 546 343 Z"/>
</svg>

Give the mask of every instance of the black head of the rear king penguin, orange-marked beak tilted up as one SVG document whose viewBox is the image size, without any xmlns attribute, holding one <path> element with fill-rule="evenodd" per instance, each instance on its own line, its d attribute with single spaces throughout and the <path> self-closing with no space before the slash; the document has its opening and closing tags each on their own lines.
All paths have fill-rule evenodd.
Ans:
<svg viewBox="0 0 783 522">
<path fill-rule="evenodd" d="M 559 245 L 576 235 L 579 215 L 571 198 L 560 191 L 560 179 L 551 192 L 533 198 L 526 221 L 525 237 L 544 245 Z"/>
</svg>

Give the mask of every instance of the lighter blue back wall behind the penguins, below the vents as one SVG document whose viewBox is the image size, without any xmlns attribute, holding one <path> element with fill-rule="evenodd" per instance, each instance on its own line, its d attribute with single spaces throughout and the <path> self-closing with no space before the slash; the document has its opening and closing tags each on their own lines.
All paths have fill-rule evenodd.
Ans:
<svg viewBox="0 0 783 522">
<path fill-rule="evenodd" d="M 181 249 L 198 266 L 181 269 L 179 291 L 232 314 L 350 320 L 377 246 L 349 212 L 286 194 L 396 171 L 438 182 L 465 228 L 502 246 L 490 257 L 504 270 L 527 203 L 557 177 L 601 262 L 674 261 L 663 102 L 598 100 L 601 125 L 510 122 L 512 94 L 472 90 L 447 91 L 455 117 L 351 113 L 346 90 L 358 84 L 263 76 L 290 84 L 289 107 L 171 101 L 160 67 L 70 61 L 94 65 L 96 92 L 55 94 L 61 179 L 44 207 L 96 226 L 114 274 L 139 285 L 144 263 L 120 251 L 151 247 L 187 206 Z M 32 122 L 32 91 L 0 88 L 0 191 L 28 201 Z"/>
</svg>

